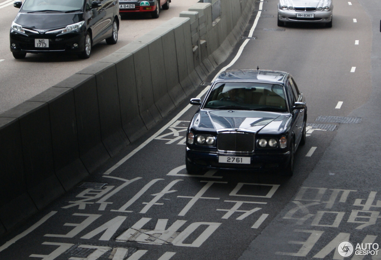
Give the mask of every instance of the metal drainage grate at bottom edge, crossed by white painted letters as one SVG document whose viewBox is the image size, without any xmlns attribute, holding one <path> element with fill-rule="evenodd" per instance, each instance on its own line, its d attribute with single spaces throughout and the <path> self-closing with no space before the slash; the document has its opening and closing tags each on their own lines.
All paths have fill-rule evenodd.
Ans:
<svg viewBox="0 0 381 260">
<path fill-rule="evenodd" d="M 80 247 L 81 244 L 75 244 L 74 246 L 70 247 L 66 252 L 64 253 L 65 255 L 72 255 L 74 256 L 73 258 L 75 259 L 87 259 L 87 257 L 93 253 L 96 250 L 96 247 L 101 246 L 101 245 L 95 245 L 95 244 L 85 244 L 83 246 L 94 246 L 93 248 L 88 248 L 88 247 Z M 104 245 L 102 245 L 104 246 Z M 107 245 L 109 247 L 112 247 L 110 245 Z M 125 246 L 117 246 L 117 247 L 122 247 L 128 250 L 127 252 L 127 258 L 130 257 L 136 250 L 138 250 L 137 247 L 125 247 Z M 107 252 L 105 252 L 101 257 L 97 259 L 113 259 L 113 256 L 115 254 L 116 247 L 111 248 Z M 70 257 L 69 259 L 72 259 Z M 93 259 L 93 258 L 91 258 Z M 95 258 L 94 258 L 95 259 Z M 124 259 L 124 258 L 123 258 Z"/>
</svg>

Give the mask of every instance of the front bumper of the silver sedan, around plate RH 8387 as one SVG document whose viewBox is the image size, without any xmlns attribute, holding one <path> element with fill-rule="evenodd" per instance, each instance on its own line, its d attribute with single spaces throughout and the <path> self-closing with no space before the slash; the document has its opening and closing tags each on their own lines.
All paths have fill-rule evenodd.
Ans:
<svg viewBox="0 0 381 260">
<path fill-rule="evenodd" d="M 332 11 L 314 11 L 314 12 L 298 12 L 295 10 L 278 10 L 278 19 L 282 22 L 322 22 L 327 23 L 332 20 Z M 314 18 L 297 18 L 298 13 L 314 14 Z"/>
</svg>

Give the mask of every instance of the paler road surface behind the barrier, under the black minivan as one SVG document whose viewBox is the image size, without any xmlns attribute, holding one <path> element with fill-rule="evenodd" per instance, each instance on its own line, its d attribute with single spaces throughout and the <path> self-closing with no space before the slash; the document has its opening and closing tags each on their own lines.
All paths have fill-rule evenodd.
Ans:
<svg viewBox="0 0 381 260">
<path fill-rule="evenodd" d="M 31 54 L 25 59 L 14 59 L 9 46 L 11 23 L 18 8 L 15 0 L 0 0 L 0 113 L 34 97 L 74 73 L 99 61 L 103 57 L 136 40 L 145 33 L 173 17 L 199 0 L 174 0 L 168 10 L 161 10 L 158 19 L 150 14 L 122 14 L 118 42 L 107 45 L 102 41 L 95 45 L 89 59 L 78 59 L 75 54 Z"/>
</svg>

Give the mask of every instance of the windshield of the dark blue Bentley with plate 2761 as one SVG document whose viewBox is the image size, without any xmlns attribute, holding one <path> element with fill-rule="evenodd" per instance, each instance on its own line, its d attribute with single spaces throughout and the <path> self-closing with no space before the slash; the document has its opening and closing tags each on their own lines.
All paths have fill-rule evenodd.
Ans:
<svg viewBox="0 0 381 260">
<path fill-rule="evenodd" d="M 203 108 L 287 112 L 282 85 L 255 82 L 217 83 Z"/>
</svg>

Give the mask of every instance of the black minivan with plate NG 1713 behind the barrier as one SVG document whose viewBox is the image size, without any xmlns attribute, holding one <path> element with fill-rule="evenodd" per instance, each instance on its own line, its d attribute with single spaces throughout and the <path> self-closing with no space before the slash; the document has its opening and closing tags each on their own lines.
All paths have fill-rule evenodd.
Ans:
<svg viewBox="0 0 381 260">
<path fill-rule="evenodd" d="M 91 47 L 106 39 L 118 40 L 118 0 L 25 0 L 12 22 L 10 48 L 13 57 L 26 53 L 67 52 L 87 59 Z"/>
</svg>

